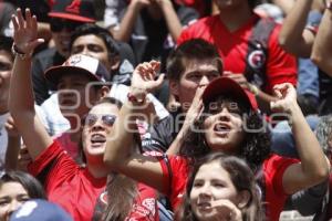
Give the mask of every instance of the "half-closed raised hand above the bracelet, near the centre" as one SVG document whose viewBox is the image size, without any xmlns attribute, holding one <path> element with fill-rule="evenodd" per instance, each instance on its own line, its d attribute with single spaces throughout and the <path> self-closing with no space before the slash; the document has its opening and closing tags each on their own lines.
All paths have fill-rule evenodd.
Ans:
<svg viewBox="0 0 332 221">
<path fill-rule="evenodd" d="M 154 92 L 162 86 L 164 74 L 155 80 L 160 69 L 160 62 L 151 61 L 138 64 L 133 72 L 131 91 L 138 97 L 145 96 L 147 93 Z"/>
</svg>

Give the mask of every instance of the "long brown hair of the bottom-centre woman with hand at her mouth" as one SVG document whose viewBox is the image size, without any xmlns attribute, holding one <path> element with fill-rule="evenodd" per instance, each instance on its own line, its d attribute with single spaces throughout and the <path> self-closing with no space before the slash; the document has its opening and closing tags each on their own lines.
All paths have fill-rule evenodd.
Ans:
<svg viewBox="0 0 332 221">
<path fill-rule="evenodd" d="M 195 212 L 191 209 L 190 192 L 194 186 L 195 177 L 199 171 L 199 168 L 204 165 L 218 162 L 222 169 L 225 169 L 230 177 L 232 185 L 238 193 L 241 191 L 248 191 L 250 199 L 248 203 L 240 209 L 243 221 L 261 221 L 264 218 L 263 207 L 260 201 L 260 193 L 257 187 L 256 178 L 249 166 L 245 160 L 229 156 L 224 152 L 214 152 L 200 158 L 194 166 L 194 169 L 189 176 L 186 187 L 186 194 L 184 197 L 184 203 L 177 212 L 177 219 L 181 221 L 198 221 Z"/>
</svg>

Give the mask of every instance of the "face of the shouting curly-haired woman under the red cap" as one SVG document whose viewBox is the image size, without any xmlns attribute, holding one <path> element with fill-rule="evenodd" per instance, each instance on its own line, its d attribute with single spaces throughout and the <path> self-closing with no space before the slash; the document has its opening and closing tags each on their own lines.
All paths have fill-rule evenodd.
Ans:
<svg viewBox="0 0 332 221">
<path fill-rule="evenodd" d="M 209 116 L 204 122 L 205 138 L 212 151 L 236 154 L 245 139 L 242 114 L 236 102 L 210 104 Z"/>
</svg>

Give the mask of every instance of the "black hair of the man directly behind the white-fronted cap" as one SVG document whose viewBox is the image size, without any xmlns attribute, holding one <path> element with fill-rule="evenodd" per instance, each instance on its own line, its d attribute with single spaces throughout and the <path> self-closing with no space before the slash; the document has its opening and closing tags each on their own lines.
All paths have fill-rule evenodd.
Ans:
<svg viewBox="0 0 332 221">
<path fill-rule="evenodd" d="M 103 40 L 107 48 L 108 61 L 113 61 L 114 57 L 120 56 L 120 46 L 112 33 L 94 23 L 85 23 L 75 29 L 75 32 L 71 36 L 70 50 L 72 51 L 73 43 L 77 38 L 89 34 L 96 35 Z"/>
</svg>

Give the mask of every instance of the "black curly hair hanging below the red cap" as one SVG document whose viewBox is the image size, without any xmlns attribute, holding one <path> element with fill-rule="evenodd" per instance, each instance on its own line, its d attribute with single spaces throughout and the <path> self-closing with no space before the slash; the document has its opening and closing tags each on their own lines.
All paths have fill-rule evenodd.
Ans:
<svg viewBox="0 0 332 221">
<path fill-rule="evenodd" d="M 246 131 L 245 140 L 238 146 L 237 157 L 243 158 L 250 168 L 256 171 L 262 161 L 270 155 L 271 136 L 270 129 L 262 115 L 258 112 L 237 103 L 237 99 L 229 96 L 219 96 L 215 99 L 218 105 L 224 102 L 235 102 L 238 104 L 243 117 L 242 129 Z M 209 105 L 205 105 L 204 114 L 190 128 L 185 143 L 179 150 L 179 155 L 189 157 L 191 164 L 199 157 L 210 152 L 210 147 L 206 143 L 204 129 L 205 119 L 210 116 Z"/>
</svg>

